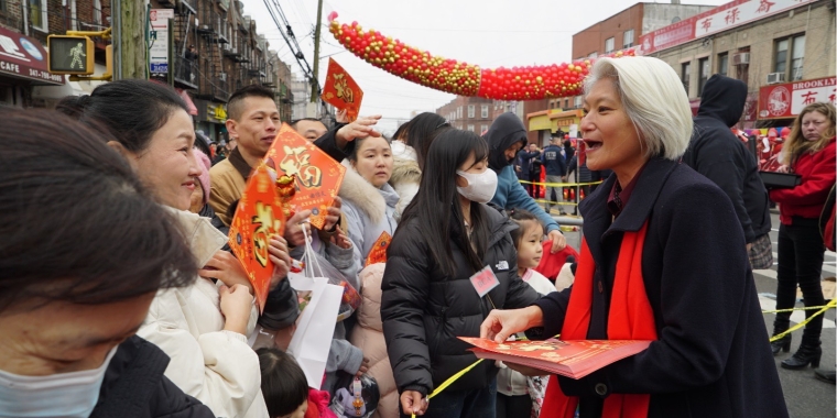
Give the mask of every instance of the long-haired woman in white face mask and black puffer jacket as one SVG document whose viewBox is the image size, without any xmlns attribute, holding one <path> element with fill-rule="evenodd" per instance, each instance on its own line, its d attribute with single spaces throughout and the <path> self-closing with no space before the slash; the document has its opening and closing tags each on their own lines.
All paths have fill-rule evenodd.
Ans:
<svg viewBox="0 0 837 418">
<path fill-rule="evenodd" d="M 497 367 L 481 363 L 435 396 L 442 382 L 476 361 L 457 337 L 476 337 L 493 308 L 524 307 L 537 294 L 518 276 L 517 228 L 486 204 L 497 175 L 477 134 L 447 130 L 434 141 L 418 194 L 388 251 L 381 289 L 387 351 L 404 414 L 493 417 Z M 469 278 L 488 267 L 498 285 L 482 297 Z"/>
</svg>

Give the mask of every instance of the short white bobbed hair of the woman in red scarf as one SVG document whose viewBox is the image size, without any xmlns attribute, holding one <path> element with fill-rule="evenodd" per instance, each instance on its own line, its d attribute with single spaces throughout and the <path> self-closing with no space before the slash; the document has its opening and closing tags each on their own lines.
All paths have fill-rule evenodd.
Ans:
<svg viewBox="0 0 837 418">
<path fill-rule="evenodd" d="M 692 138 L 692 109 L 677 73 L 644 56 L 599 58 L 585 80 L 585 95 L 601 79 L 612 79 L 622 107 L 649 157 L 680 158 Z"/>
</svg>

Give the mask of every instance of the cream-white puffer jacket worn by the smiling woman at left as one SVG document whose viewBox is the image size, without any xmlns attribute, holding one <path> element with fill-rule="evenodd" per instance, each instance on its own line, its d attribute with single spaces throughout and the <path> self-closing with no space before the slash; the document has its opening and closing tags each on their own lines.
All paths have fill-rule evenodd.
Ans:
<svg viewBox="0 0 837 418">
<path fill-rule="evenodd" d="M 206 265 L 227 242 L 206 218 L 171 209 L 189 242 L 197 265 Z M 286 282 L 286 280 L 283 280 Z M 218 417 L 268 417 L 261 393 L 259 358 L 247 336 L 224 330 L 218 287 L 196 277 L 188 287 L 160 290 L 138 336 L 171 358 L 165 376 Z M 258 310 L 250 311 L 248 334 Z"/>
</svg>

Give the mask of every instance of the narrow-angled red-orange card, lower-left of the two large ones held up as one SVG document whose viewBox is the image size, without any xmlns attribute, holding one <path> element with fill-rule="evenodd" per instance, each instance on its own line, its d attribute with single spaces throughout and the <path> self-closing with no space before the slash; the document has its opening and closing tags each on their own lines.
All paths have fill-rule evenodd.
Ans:
<svg viewBox="0 0 837 418">
<path fill-rule="evenodd" d="M 259 309 L 264 310 L 264 301 L 270 292 L 273 262 L 268 246 L 270 238 L 283 235 L 285 217 L 276 196 L 276 188 L 264 165 L 259 165 L 247 182 L 236 216 L 229 228 L 229 246 L 247 272 L 253 286 Z"/>
</svg>

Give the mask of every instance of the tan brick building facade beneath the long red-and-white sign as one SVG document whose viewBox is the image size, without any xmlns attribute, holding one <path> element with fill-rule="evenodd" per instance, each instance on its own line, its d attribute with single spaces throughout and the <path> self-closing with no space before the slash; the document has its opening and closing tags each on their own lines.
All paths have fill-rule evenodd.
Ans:
<svg viewBox="0 0 837 418">
<path fill-rule="evenodd" d="M 694 38 L 650 56 L 665 61 L 681 76 L 693 111 L 697 111 L 700 105 L 706 80 L 714 74 L 722 74 L 748 85 L 748 101 L 739 128 L 786 127 L 794 113 L 785 113 L 785 118 L 759 114 L 757 109 L 764 105 L 759 103 L 759 92 L 782 82 L 835 77 L 835 2 L 803 2 L 781 13 Z M 816 100 L 825 101 L 828 97 Z"/>
</svg>

